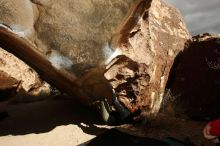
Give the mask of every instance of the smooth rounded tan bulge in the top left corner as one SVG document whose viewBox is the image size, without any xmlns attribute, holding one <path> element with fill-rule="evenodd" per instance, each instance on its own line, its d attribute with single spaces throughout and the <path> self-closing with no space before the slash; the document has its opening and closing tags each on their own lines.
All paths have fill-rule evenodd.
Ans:
<svg viewBox="0 0 220 146">
<path fill-rule="evenodd" d="M 30 0 L 1 0 L 0 23 L 10 26 L 22 35 L 30 35 L 34 25 L 34 7 Z"/>
</svg>

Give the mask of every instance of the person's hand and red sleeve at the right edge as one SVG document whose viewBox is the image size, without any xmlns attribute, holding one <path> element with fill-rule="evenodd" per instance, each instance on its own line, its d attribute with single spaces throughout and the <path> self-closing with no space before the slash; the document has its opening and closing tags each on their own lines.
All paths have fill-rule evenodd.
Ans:
<svg viewBox="0 0 220 146">
<path fill-rule="evenodd" d="M 204 137 L 208 140 L 212 140 L 214 143 L 220 142 L 220 119 L 209 122 L 204 130 Z"/>
</svg>

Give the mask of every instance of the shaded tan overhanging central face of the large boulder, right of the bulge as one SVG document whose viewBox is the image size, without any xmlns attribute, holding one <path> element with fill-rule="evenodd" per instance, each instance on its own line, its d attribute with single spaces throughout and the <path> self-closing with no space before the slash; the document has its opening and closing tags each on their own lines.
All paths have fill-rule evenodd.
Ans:
<svg viewBox="0 0 220 146">
<path fill-rule="evenodd" d="M 74 71 L 82 71 L 108 57 L 111 49 L 104 50 L 105 46 L 135 0 L 33 0 L 33 3 L 39 11 L 34 25 L 36 44 L 46 51 L 58 50 L 72 61 Z"/>
</svg>

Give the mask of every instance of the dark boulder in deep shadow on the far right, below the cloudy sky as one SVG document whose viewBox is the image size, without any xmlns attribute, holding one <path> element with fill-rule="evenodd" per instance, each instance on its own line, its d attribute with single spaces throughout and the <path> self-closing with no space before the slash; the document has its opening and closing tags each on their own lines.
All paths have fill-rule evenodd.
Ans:
<svg viewBox="0 0 220 146">
<path fill-rule="evenodd" d="M 177 113 L 206 119 L 220 116 L 220 37 L 195 36 L 173 70 L 171 98 Z"/>
</svg>

